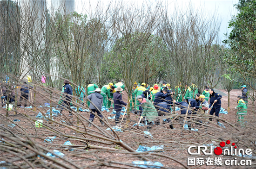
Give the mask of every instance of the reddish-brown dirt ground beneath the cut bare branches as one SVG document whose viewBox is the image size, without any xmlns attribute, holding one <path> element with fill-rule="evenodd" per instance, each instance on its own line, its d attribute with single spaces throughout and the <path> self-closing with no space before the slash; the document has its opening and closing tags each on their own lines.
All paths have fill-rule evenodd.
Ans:
<svg viewBox="0 0 256 169">
<path fill-rule="evenodd" d="M 228 95 L 228 93 L 225 92 L 224 90 L 222 90 L 222 89 L 219 89 L 219 90 Z M 68 140 L 67 137 L 57 137 L 54 139 L 53 143 L 44 142 L 44 139 L 46 139 L 47 137 L 52 137 L 53 133 L 49 132 L 44 127 L 35 128 L 33 119 L 35 119 L 35 116 L 39 112 L 41 112 L 41 113 L 47 112 L 47 109 L 49 109 L 49 107 L 44 107 L 44 104 L 49 103 L 50 100 L 48 97 L 46 97 L 47 96 L 46 91 L 40 90 L 39 93 L 40 94 L 36 94 L 36 99 L 35 99 L 33 105 L 34 106 L 41 105 L 43 107 L 40 107 L 40 108 L 37 107 L 35 111 L 34 111 L 34 109 L 31 109 L 31 108 L 18 108 L 17 109 L 18 115 L 13 115 L 14 111 L 10 111 L 8 118 L 5 118 L 5 115 L 6 115 L 5 108 L 0 108 L 0 115 L 1 115 L 0 125 L 7 127 L 8 124 L 14 123 L 13 122 L 14 119 L 20 119 L 20 122 L 15 122 L 15 124 L 16 124 L 15 127 L 13 127 L 13 128 L 9 127 L 9 129 L 12 130 L 13 132 L 14 132 L 14 130 L 16 130 L 15 133 L 19 133 L 19 129 L 18 129 L 19 127 L 26 130 L 27 133 L 30 133 L 31 136 L 34 136 L 35 143 L 40 144 L 41 146 L 47 147 L 49 150 L 55 150 L 55 149 L 60 150 L 61 152 L 63 152 L 65 154 L 65 156 L 67 156 L 67 159 L 72 160 L 78 166 L 89 166 L 92 163 L 99 162 L 95 159 L 101 159 L 103 161 L 106 160 L 108 163 L 115 162 L 114 164 L 119 167 L 117 167 L 117 166 L 114 167 L 114 166 L 111 166 L 110 164 L 109 165 L 102 164 L 102 165 L 90 166 L 88 168 L 120 168 L 122 166 L 121 163 L 131 164 L 132 161 L 141 161 L 136 156 L 113 153 L 113 152 L 108 152 L 108 151 L 100 151 L 100 150 L 67 151 L 63 147 L 60 146 L 60 145 L 63 145 Z M 32 95 L 34 96 L 34 93 Z M 237 106 L 237 102 L 236 102 L 237 95 L 241 95 L 241 90 L 232 90 L 230 92 L 230 112 L 228 114 L 220 114 L 220 118 L 223 120 L 226 120 L 231 125 L 236 124 L 235 106 Z M 127 96 L 126 92 L 124 92 L 122 97 L 123 97 L 123 100 L 125 102 L 127 102 L 128 96 Z M 56 97 L 55 98 L 53 97 L 52 100 L 55 103 L 58 102 L 59 96 L 56 95 Z M 54 104 L 54 105 L 56 107 L 56 104 Z M 28 104 L 27 106 L 30 106 L 30 104 Z M 222 97 L 222 107 L 226 110 L 228 109 L 228 96 Z M 252 109 L 253 108 L 251 106 L 251 103 L 249 103 L 248 115 L 246 117 L 246 120 L 248 122 L 255 121 L 255 116 L 254 116 L 255 112 L 253 112 Z M 113 107 L 110 108 L 110 112 L 103 111 L 102 114 L 106 118 L 108 118 L 109 116 L 114 116 L 115 114 L 110 114 L 112 112 L 112 110 L 113 110 Z M 79 112 L 79 113 L 84 119 L 89 119 L 88 112 Z M 26 116 L 24 116 L 24 114 L 26 114 L 30 118 L 27 118 Z M 73 125 L 77 124 L 77 120 L 74 117 L 73 118 L 67 117 L 68 112 L 66 110 L 63 111 L 63 114 L 64 114 L 64 116 L 54 117 L 54 119 L 56 121 L 64 120 L 67 122 L 67 124 L 68 123 L 71 123 Z M 135 124 L 138 120 L 139 120 L 139 116 L 131 113 L 129 125 Z M 112 119 L 108 120 L 108 122 L 112 126 L 115 125 L 115 122 Z M 47 120 L 44 120 L 43 123 L 44 123 L 44 125 L 51 126 L 51 123 Z M 85 120 L 84 120 L 84 123 L 85 123 L 85 125 L 88 125 L 88 123 Z M 100 121 L 98 118 L 95 118 L 93 123 L 95 125 L 100 126 L 104 130 L 106 130 L 108 128 L 107 126 L 102 126 L 100 124 Z M 64 126 L 58 125 L 58 124 L 53 124 L 52 126 L 58 128 L 58 130 L 61 130 L 63 133 L 66 133 L 67 135 L 72 135 L 72 134 L 76 135 L 74 130 L 70 130 L 68 127 L 64 127 Z M 80 127 L 80 130 L 84 130 L 84 126 L 81 123 L 79 124 L 79 127 Z M 201 139 L 204 139 L 204 138 L 203 137 L 201 138 L 201 135 L 199 135 L 201 133 L 201 131 L 200 132 L 190 132 L 190 131 L 185 130 L 181 134 L 180 131 L 178 131 L 178 128 L 180 126 L 178 124 L 174 123 L 174 127 L 177 128 L 177 130 L 171 130 L 168 128 L 168 126 L 164 126 L 164 125 L 161 125 L 160 128 L 154 126 L 152 128 L 152 130 L 150 131 L 150 133 L 153 136 L 153 139 L 150 137 L 147 137 L 147 138 L 144 137 L 144 134 L 142 131 L 146 130 L 146 126 L 140 127 L 140 131 L 138 131 L 134 127 L 128 126 L 128 128 L 126 128 L 126 129 L 122 128 L 122 131 L 124 131 L 124 132 L 118 132 L 118 134 L 119 134 L 120 139 L 134 150 L 136 150 L 139 147 L 139 145 L 152 146 L 152 145 L 162 144 L 165 146 L 164 152 L 158 152 L 158 153 L 160 153 L 160 154 L 162 153 L 162 155 L 164 155 L 164 156 L 173 157 L 173 158 L 181 161 L 182 163 L 187 164 L 186 157 L 188 157 L 188 153 L 186 151 L 186 148 L 184 148 L 184 147 L 191 145 L 193 142 L 199 144 L 202 142 Z M 98 129 L 95 126 L 92 126 L 90 129 L 91 129 L 91 131 L 89 131 L 89 132 L 91 132 L 91 133 L 98 131 Z M 235 137 L 236 137 L 236 132 L 232 133 L 228 128 L 227 129 L 221 128 L 221 129 L 216 129 L 216 130 L 220 130 L 221 132 L 224 132 L 223 138 L 229 137 L 231 139 L 235 139 Z M 202 135 L 205 134 L 204 132 L 206 132 L 205 129 L 202 130 L 201 134 Z M 227 133 L 225 133 L 225 132 L 227 132 Z M 239 132 L 242 132 L 242 131 L 239 131 Z M 111 132 L 109 131 L 109 133 L 111 133 Z M 208 133 L 210 133 L 210 131 L 208 131 Z M 95 133 L 95 134 L 97 134 L 97 133 Z M 216 133 L 214 133 L 213 131 L 211 132 L 212 140 L 217 137 L 215 134 Z M 91 137 L 89 137 L 89 138 L 91 138 Z M 5 138 L 5 139 L 7 139 L 7 138 Z M 253 139 L 256 139 L 256 138 L 253 138 Z M 74 139 L 71 140 L 71 143 L 74 145 L 81 145 L 80 141 L 76 141 Z M 95 142 L 90 142 L 90 144 L 98 145 L 98 146 L 106 146 L 105 144 L 100 144 L 100 143 L 95 143 Z M 122 147 L 120 147 L 119 145 L 116 145 L 116 144 L 108 145 L 108 147 L 117 149 L 117 150 L 122 149 Z M 77 153 L 77 152 L 82 152 L 82 154 L 73 156 L 74 153 Z M 8 153 L 1 152 L 0 161 L 3 160 L 3 156 L 5 154 L 8 154 Z M 12 157 L 12 156 L 9 156 L 9 157 Z M 181 164 L 176 163 L 173 160 L 170 160 L 170 158 L 154 156 L 154 157 L 151 157 L 151 160 L 158 161 L 158 162 L 162 163 L 165 168 L 183 168 L 183 166 Z M 116 163 L 116 162 L 118 162 L 118 163 Z M 126 168 L 126 167 L 124 167 L 124 168 Z M 222 167 L 225 167 L 225 166 L 222 166 Z M 132 166 L 132 168 L 135 168 L 135 166 Z M 200 169 L 204 169 L 204 168 L 208 169 L 208 168 L 214 168 L 214 167 L 213 166 L 209 167 L 209 166 L 205 166 L 205 165 L 200 167 Z M 219 167 L 217 167 L 217 168 L 219 168 Z"/>
</svg>

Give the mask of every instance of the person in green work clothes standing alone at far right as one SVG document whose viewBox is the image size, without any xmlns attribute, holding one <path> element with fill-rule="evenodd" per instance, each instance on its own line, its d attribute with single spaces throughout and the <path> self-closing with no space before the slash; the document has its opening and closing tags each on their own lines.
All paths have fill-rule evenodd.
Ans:
<svg viewBox="0 0 256 169">
<path fill-rule="evenodd" d="M 247 106 L 245 101 L 242 99 L 242 96 L 237 96 L 238 105 L 236 106 L 237 113 L 236 116 L 238 117 L 237 123 L 240 123 L 241 126 L 244 126 L 244 116 L 247 114 Z"/>
</svg>

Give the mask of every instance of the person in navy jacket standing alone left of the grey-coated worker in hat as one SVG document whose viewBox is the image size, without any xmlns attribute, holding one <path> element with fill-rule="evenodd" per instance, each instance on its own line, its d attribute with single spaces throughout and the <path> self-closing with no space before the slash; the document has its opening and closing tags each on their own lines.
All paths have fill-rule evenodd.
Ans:
<svg viewBox="0 0 256 169">
<path fill-rule="evenodd" d="M 73 116 L 72 110 L 70 108 L 70 102 L 72 100 L 72 94 L 73 94 L 73 89 L 69 84 L 70 82 L 67 80 L 64 80 L 64 94 L 63 94 L 63 103 L 61 105 L 61 112 L 64 109 L 64 106 L 67 107 L 69 115 L 68 116 Z"/>
</svg>

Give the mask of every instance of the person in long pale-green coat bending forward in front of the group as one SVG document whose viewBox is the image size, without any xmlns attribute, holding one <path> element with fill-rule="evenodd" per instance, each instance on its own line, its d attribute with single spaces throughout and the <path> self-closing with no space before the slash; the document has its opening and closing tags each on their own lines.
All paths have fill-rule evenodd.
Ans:
<svg viewBox="0 0 256 169">
<path fill-rule="evenodd" d="M 142 107 L 142 113 L 138 124 L 140 124 L 141 119 L 145 117 L 148 120 L 147 129 L 150 130 L 153 125 L 153 120 L 158 118 L 158 113 L 155 109 L 155 106 L 150 100 L 143 98 L 141 95 L 137 96 L 137 100 L 140 102 Z"/>
</svg>

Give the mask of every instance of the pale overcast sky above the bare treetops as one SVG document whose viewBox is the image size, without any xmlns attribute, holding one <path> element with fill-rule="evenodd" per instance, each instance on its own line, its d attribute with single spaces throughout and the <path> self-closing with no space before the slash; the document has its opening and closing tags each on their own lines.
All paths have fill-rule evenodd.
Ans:
<svg viewBox="0 0 256 169">
<path fill-rule="evenodd" d="M 47 0 L 49 7 L 49 2 Z M 52 0 L 57 1 L 57 0 Z M 74 0 L 75 1 L 75 11 L 78 13 L 85 13 L 84 8 L 90 3 L 94 6 L 98 0 Z M 107 6 L 110 0 L 100 0 L 100 3 L 104 3 Z M 121 1 L 121 0 L 116 0 Z M 159 2 L 158 0 L 122 0 L 124 3 L 136 3 L 140 6 L 145 1 L 147 3 L 154 4 Z M 232 15 L 236 15 L 237 11 L 234 4 L 238 3 L 238 0 L 162 0 L 162 4 L 168 4 L 168 6 L 178 6 L 180 9 L 186 9 L 186 6 L 191 2 L 192 6 L 196 10 L 202 10 L 206 15 L 216 13 L 221 21 L 219 39 L 222 41 L 225 39 L 224 33 L 230 32 L 228 29 L 228 23 Z"/>
</svg>

